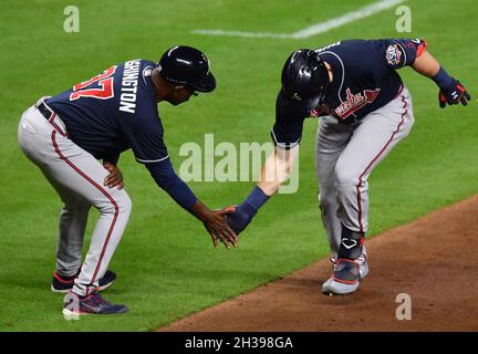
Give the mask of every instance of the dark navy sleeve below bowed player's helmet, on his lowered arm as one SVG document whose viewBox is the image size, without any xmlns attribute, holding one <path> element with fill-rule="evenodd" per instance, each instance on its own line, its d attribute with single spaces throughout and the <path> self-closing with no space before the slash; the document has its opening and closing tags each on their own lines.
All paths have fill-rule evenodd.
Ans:
<svg viewBox="0 0 478 354">
<path fill-rule="evenodd" d="M 279 92 L 276 101 L 276 123 L 271 137 L 278 148 L 289 149 L 302 139 L 303 122 L 311 115 L 313 102 L 290 100 Z"/>
</svg>

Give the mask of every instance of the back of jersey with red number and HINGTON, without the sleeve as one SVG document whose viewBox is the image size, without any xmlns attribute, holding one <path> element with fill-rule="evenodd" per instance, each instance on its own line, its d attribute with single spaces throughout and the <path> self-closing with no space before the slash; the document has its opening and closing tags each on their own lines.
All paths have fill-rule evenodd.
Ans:
<svg viewBox="0 0 478 354">
<path fill-rule="evenodd" d="M 129 148 L 121 119 L 132 119 L 145 107 L 156 113 L 150 71 L 155 64 L 132 60 L 74 85 L 45 103 L 66 125 L 70 138 L 96 158 Z"/>
</svg>

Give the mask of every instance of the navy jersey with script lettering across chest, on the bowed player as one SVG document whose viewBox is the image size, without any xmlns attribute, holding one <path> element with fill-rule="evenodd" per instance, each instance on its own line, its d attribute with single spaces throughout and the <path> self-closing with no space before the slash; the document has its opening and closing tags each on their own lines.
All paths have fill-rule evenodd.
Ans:
<svg viewBox="0 0 478 354">
<path fill-rule="evenodd" d="M 412 65 L 426 48 L 419 39 L 347 40 L 315 50 L 329 63 L 333 81 L 325 95 L 331 114 L 360 122 L 394 100 L 403 87 L 396 70 Z M 271 136 L 279 147 L 300 143 L 303 121 L 316 116 L 316 101 L 295 101 L 279 92 Z"/>
</svg>

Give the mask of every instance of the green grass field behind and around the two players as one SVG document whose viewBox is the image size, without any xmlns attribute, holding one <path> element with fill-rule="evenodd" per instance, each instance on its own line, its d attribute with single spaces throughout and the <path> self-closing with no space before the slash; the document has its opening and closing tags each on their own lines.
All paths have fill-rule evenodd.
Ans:
<svg viewBox="0 0 478 354">
<path fill-rule="evenodd" d="M 0 14 L 0 331 L 149 331 L 278 279 L 328 253 L 316 206 L 313 145 L 316 121 L 305 124 L 300 189 L 274 197 L 241 236 L 239 249 L 212 249 L 208 235 L 159 190 L 147 170 L 124 154 L 121 167 L 133 215 L 112 261 L 117 283 L 107 299 L 131 313 L 66 322 L 62 296 L 49 290 L 61 204 L 17 143 L 21 113 L 40 96 L 59 93 L 134 58 L 157 60 L 181 43 L 204 50 L 218 88 L 188 104 L 160 104 L 166 143 L 179 167 L 184 142 L 267 142 L 280 70 L 298 48 L 346 38 L 420 37 L 474 95 L 470 106 L 439 110 L 435 85 L 401 71 L 413 93 L 411 136 L 371 177 L 373 236 L 478 190 L 478 49 L 475 1 L 408 1 L 413 33 L 396 33 L 394 10 L 301 41 L 200 37 L 194 29 L 293 32 L 370 1 L 75 1 L 81 32 L 63 32 L 65 1 L 2 1 Z M 468 43 L 468 44 L 467 44 Z M 240 201 L 252 183 L 194 183 L 210 207 Z M 89 223 L 94 225 L 95 214 Z M 411 249 L 411 252 L 414 250 Z"/>
</svg>

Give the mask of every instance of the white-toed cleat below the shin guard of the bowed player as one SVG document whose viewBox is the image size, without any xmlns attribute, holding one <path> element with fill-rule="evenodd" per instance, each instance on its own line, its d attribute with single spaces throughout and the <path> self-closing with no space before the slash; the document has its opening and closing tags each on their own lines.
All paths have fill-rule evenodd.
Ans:
<svg viewBox="0 0 478 354">
<path fill-rule="evenodd" d="M 368 272 L 368 267 L 366 269 Z M 322 284 L 322 292 L 332 295 L 346 295 L 360 285 L 360 264 L 350 259 L 339 259 L 332 277 Z"/>
</svg>

